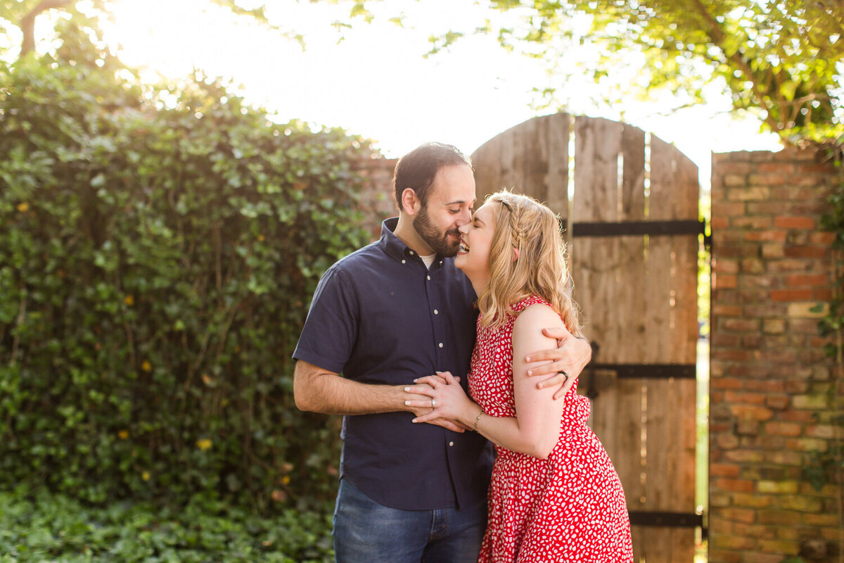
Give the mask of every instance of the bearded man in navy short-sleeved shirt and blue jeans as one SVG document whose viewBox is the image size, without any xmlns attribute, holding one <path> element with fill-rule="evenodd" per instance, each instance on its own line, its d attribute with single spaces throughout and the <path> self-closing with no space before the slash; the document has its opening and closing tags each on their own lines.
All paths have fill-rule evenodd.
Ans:
<svg viewBox="0 0 844 563">
<path fill-rule="evenodd" d="M 404 390 L 436 371 L 466 387 L 478 313 L 452 257 L 475 203 L 472 166 L 455 147 L 426 143 L 398 161 L 393 185 L 398 219 L 317 286 L 294 352 L 296 406 L 344 415 L 338 562 L 473 562 L 486 527 L 490 444 L 452 421 L 414 425 L 430 409 L 405 406 L 425 397 Z M 530 360 L 556 361 L 533 375 L 568 372 L 538 383 L 565 380 L 561 397 L 591 349 L 565 331 L 548 335 L 560 348 Z"/>
</svg>

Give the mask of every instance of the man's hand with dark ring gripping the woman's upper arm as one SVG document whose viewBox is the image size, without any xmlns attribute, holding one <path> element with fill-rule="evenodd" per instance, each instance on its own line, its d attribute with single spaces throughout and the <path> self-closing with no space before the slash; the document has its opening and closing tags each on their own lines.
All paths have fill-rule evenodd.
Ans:
<svg viewBox="0 0 844 563">
<path fill-rule="evenodd" d="M 558 347 L 549 350 L 540 350 L 525 356 L 527 363 L 538 364 L 527 370 L 528 376 L 547 376 L 538 382 L 536 387 L 560 388 L 554 393 L 554 398 L 565 397 L 565 393 L 575 384 L 581 371 L 592 360 L 592 346 L 586 338 L 577 338 L 566 328 L 543 328 L 542 333 L 549 338 L 556 338 Z M 564 375 L 565 373 L 565 375 Z"/>
</svg>

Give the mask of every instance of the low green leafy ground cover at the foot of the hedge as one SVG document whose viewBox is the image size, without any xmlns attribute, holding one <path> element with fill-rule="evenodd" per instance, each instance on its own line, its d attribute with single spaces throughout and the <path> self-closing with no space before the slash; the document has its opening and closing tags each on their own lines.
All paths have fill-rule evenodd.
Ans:
<svg viewBox="0 0 844 563">
<path fill-rule="evenodd" d="M 197 497 L 181 509 L 0 492 L 0 563 L 328 563 L 330 512 L 272 517 Z"/>
</svg>

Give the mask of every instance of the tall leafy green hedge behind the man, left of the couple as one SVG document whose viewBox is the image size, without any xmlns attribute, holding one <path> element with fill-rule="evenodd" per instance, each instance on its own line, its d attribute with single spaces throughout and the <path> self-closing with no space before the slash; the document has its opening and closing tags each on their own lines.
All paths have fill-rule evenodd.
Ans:
<svg viewBox="0 0 844 563">
<path fill-rule="evenodd" d="M 0 488 L 333 496 L 338 420 L 295 409 L 289 356 L 368 239 L 373 149 L 65 45 L 0 67 Z"/>
</svg>

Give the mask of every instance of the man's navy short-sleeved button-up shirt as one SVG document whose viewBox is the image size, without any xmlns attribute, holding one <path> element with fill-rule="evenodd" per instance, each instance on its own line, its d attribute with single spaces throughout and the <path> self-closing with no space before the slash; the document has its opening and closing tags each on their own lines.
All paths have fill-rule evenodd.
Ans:
<svg viewBox="0 0 844 563">
<path fill-rule="evenodd" d="M 322 276 L 293 357 L 361 383 L 409 385 L 451 371 L 467 386 L 474 291 L 452 258 L 430 270 L 384 221 L 381 239 Z M 475 432 L 414 424 L 402 411 L 345 416 L 340 476 L 384 506 L 430 510 L 483 501 L 492 448 Z"/>
</svg>

